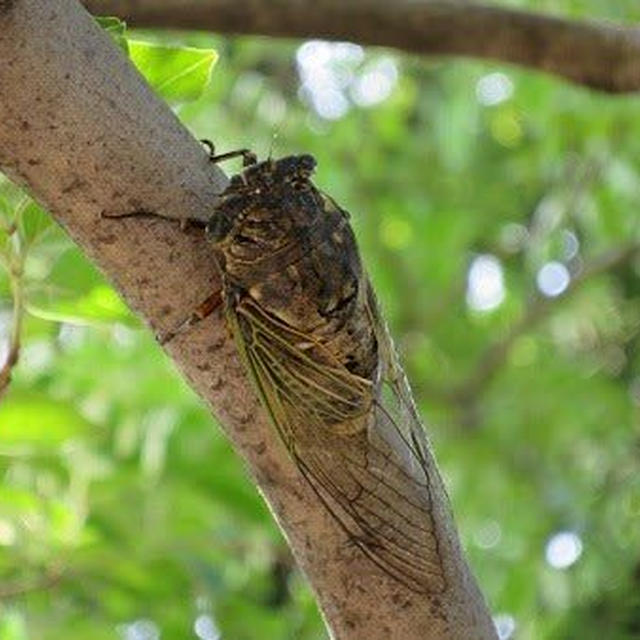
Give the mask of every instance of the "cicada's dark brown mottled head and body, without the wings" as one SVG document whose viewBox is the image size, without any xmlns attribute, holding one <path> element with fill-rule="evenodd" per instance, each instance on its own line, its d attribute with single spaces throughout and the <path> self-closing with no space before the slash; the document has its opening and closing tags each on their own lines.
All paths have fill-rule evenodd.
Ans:
<svg viewBox="0 0 640 640">
<path fill-rule="evenodd" d="M 366 318 L 366 278 L 348 215 L 309 181 L 311 156 L 267 161 L 235 176 L 208 233 L 227 304 L 259 306 L 289 329 L 313 336 L 304 351 L 370 379 L 377 363 Z"/>
</svg>

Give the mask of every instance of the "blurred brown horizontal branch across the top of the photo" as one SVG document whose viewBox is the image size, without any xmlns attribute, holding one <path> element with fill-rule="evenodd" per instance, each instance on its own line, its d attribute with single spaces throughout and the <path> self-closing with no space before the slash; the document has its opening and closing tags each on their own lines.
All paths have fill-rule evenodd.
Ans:
<svg viewBox="0 0 640 640">
<path fill-rule="evenodd" d="M 640 89 L 640 29 L 459 0 L 84 0 L 133 26 L 352 40 L 500 60 L 611 93 Z"/>
</svg>

